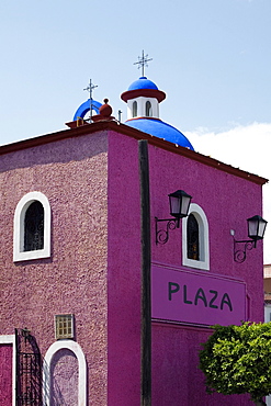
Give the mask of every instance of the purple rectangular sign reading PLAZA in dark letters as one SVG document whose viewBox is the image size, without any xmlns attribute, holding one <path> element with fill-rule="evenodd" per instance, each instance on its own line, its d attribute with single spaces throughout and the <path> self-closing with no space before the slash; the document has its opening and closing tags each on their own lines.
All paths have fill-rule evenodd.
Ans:
<svg viewBox="0 0 271 406">
<path fill-rule="evenodd" d="M 167 266 L 151 267 L 154 319 L 195 325 L 239 325 L 247 319 L 244 281 Z"/>
</svg>

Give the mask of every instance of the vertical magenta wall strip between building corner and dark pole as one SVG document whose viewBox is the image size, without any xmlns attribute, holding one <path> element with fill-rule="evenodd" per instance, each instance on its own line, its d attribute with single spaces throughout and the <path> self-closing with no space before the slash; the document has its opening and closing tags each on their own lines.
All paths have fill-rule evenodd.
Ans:
<svg viewBox="0 0 271 406">
<path fill-rule="evenodd" d="M 137 142 L 109 135 L 109 405 L 140 404 Z"/>
</svg>

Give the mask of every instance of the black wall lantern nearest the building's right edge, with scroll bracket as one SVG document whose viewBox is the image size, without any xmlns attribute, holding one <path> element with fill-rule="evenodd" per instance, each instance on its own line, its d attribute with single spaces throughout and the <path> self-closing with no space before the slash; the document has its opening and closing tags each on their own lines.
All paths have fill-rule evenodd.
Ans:
<svg viewBox="0 0 271 406">
<path fill-rule="evenodd" d="M 237 241 L 234 239 L 234 259 L 236 262 L 244 262 L 247 258 L 247 250 L 256 248 L 258 239 L 262 239 L 264 236 L 266 227 L 268 222 L 261 216 L 253 216 L 247 219 L 248 222 L 248 237 L 251 239 L 245 239 Z M 239 248 L 241 246 L 241 248 Z"/>
</svg>

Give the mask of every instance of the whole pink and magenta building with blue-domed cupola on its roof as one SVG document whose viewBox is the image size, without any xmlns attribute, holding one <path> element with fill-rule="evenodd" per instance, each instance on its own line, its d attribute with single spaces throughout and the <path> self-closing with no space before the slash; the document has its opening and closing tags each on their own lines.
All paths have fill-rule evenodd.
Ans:
<svg viewBox="0 0 271 406">
<path fill-rule="evenodd" d="M 149 157 L 153 405 L 250 404 L 205 393 L 199 350 L 210 325 L 263 320 L 262 244 L 238 262 L 234 238 L 261 215 L 267 180 L 195 153 L 159 120 L 165 93 L 145 79 L 122 94 L 125 124 L 105 106 L 91 124 L 0 147 L 0 406 L 140 404 L 139 139 Z M 189 216 L 161 244 L 155 217 L 170 217 L 177 190 L 192 196 Z"/>
</svg>

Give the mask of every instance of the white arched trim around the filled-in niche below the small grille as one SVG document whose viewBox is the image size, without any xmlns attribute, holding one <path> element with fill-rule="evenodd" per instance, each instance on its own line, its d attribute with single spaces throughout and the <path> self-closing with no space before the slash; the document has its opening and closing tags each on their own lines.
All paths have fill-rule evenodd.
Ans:
<svg viewBox="0 0 271 406">
<path fill-rule="evenodd" d="M 48 406 L 50 401 L 50 363 L 56 352 L 68 349 L 78 360 L 78 405 L 87 406 L 87 363 L 81 347 L 71 340 L 54 342 L 47 350 L 43 363 L 43 405 Z"/>
</svg>

